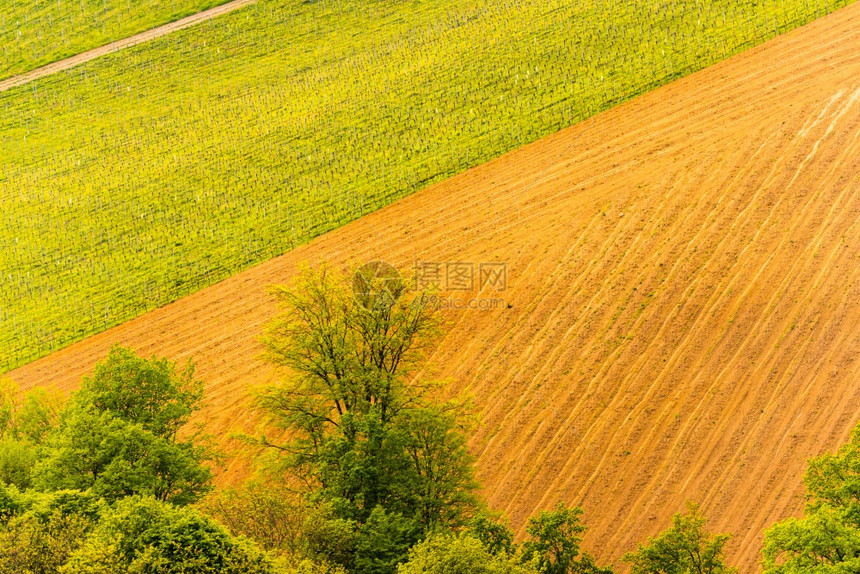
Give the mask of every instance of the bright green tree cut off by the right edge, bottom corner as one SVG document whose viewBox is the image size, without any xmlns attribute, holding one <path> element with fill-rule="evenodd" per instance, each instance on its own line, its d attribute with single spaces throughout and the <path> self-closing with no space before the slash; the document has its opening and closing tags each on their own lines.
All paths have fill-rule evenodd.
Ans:
<svg viewBox="0 0 860 574">
<path fill-rule="evenodd" d="M 860 571 L 860 425 L 835 454 L 809 461 L 804 517 L 765 532 L 767 574 Z"/>
</svg>

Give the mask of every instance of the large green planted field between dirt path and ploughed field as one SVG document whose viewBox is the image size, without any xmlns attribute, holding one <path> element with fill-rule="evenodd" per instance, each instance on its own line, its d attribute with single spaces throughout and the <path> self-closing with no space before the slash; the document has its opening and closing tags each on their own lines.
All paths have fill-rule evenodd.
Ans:
<svg viewBox="0 0 860 574">
<path fill-rule="evenodd" d="M 0 94 L 0 372 L 847 3 L 258 0 Z"/>
</svg>

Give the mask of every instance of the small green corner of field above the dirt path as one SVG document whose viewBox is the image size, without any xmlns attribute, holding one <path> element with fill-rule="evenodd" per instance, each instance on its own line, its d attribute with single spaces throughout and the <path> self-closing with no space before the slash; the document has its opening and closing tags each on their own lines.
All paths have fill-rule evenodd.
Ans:
<svg viewBox="0 0 860 574">
<path fill-rule="evenodd" d="M 0 80 L 227 0 L 3 0 Z"/>
</svg>

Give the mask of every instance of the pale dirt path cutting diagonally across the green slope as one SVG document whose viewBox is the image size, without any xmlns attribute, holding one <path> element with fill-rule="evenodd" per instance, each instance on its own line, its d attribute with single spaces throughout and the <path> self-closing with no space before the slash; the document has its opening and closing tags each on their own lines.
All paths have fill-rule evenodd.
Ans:
<svg viewBox="0 0 860 574">
<path fill-rule="evenodd" d="M 176 30 L 182 30 L 183 28 L 194 26 L 195 24 L 199 24 L 200 22 L 211 20 L 216 16 L 220 16 L 222 14 L 227 14 L 228 12 L 238 10 L 239 8 L 247 6 L 254 1 L 255 0 L 233 0 L 232 2 L 228 2 L 227 4 L 222 4 L 220 6 L 210 8 L 209 10 L 204 10 L 203 12 L 192 14 L 191 16 L 186 16 L 181 20 L 170 22 L 169 24 L 159 26 L 158 28 L 153 28 L 151 30 L 141 32 L 140 34 L 136 34 L 134 36 L 130 36 L 122 40 L 117 40 L 116 42 L 111 42 L 110 44 L 101 46 L 99 48 L 93 48 L 92 50 L 82 52 L 64 60 L 59 60 L 57 62 L 46 64 L 41 68 L 30 70 L 29 72 L 20 74 L 18 76 L 12 76 L 11 78 L 0 80 L 0 92 L 4 92 L 16 86 L 23 86 L 24 84 L 32 82 L 33 80 L 38 80 L 39 78 L 50 76 L 51 74 L 56 74 L 57 72 L 62 72 L 63 70 L 74 68 L 75 66 L 79 66 L 85 62 L 89 62 L 90 60 L 95 60 L 96 58 L 99 58 L 106 54 L 110 54 L 111 52 L 117 52 L 119 50 L 129 48 L 131 46 L 136 46 L 137 44 L 148 42 L 149 40 L 153 40 L 166 34 L 170 34 L 171 32 L 175 32 Z"/>
</svg>

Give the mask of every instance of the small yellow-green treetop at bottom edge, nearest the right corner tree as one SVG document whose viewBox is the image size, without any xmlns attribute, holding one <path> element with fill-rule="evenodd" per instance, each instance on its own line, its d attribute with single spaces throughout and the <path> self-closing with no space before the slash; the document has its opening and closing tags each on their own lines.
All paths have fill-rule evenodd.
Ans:
<svg viewBox="0 0 860 574">
<path fill-rule="evenodd" d="M 630 562 L 631 574 L 732 574 L 723 547 L 730 536 L 705 531 L 705 517 L 697 504 L 688 502 L 686 514 L 675 514 L 672 527 L 622 560 Z"/>
</svg>

